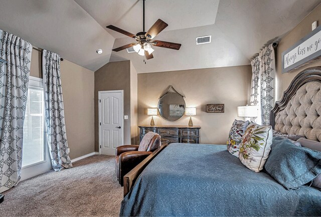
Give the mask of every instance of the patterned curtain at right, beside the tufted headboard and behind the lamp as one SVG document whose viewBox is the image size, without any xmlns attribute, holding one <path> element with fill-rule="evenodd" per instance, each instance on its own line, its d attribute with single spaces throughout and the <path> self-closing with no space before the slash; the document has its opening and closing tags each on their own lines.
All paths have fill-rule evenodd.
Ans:
<svg viewBox="0 0 321 217">
<path fill-rule="evenodd" d="M 275 103 L 275 58 L 272 44 L 251 61 L 250 105 L 259 108 L 257 124 L 270 125 L 270 111 Z"/>
</svg>

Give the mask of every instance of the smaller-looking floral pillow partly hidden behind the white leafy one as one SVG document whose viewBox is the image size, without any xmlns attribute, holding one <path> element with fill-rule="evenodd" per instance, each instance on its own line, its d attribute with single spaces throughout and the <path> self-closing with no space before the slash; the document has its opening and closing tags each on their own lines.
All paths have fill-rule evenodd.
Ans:
<svg viewBox="0 0 321 217">
<path fill-rule="evenodd" d="M 229 138 L 227 139 L 227 150 L 234 156 L 239 157 L 240 144 L 242 136 L 246 130 L 249 121 L 235 120 L 232 124 Z"/>
</svg>

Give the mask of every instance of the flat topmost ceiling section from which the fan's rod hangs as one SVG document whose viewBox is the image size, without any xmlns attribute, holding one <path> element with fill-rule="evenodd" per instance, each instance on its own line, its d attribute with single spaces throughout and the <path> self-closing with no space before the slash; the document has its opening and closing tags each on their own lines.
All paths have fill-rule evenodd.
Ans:
<svg viewBox="0 0 321 217">
<path fill-rule="evenodd" d="M 95 0 L 94 4 L 93 1 L 88 0 L 75 0 L 75 2 L 103 28 L 113 25 L 133 34 L 142 32 L 141 0 Z M 214 24 L 218 6 L 219 0 L 146 0 L 145 31 L 157 19 L 161 19 L 169 25 L 164 31 Z M 126 37 L 109 29 L 107 31 L 115 38 Z"/>
</svg>

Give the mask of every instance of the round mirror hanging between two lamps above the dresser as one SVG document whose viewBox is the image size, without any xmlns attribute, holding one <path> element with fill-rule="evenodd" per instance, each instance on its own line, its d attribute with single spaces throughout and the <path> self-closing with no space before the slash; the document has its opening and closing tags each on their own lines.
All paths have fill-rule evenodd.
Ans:
<svg viewBox="0 0 321 217">
<path fill-rule="evenodd" d="M 178 93 L 167 93 L 158 101 L 158 112 L 168 121 L 180 119 L 185 112 L 185 100 Z"/>
</svg>

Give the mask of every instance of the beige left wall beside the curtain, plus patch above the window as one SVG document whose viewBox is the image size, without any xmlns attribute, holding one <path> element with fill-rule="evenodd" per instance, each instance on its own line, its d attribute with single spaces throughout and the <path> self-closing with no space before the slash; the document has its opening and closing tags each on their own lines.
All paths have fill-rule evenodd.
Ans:
<svg viewBox="0 0 321 217">
<path fill-rule="evenodd" d="M 94 72 L 68 60 L 60 63 L 70 158 L 94 152 Z M 33 49 L 31 76 L 42 78 L 41 52 Z"/>
</svg>

